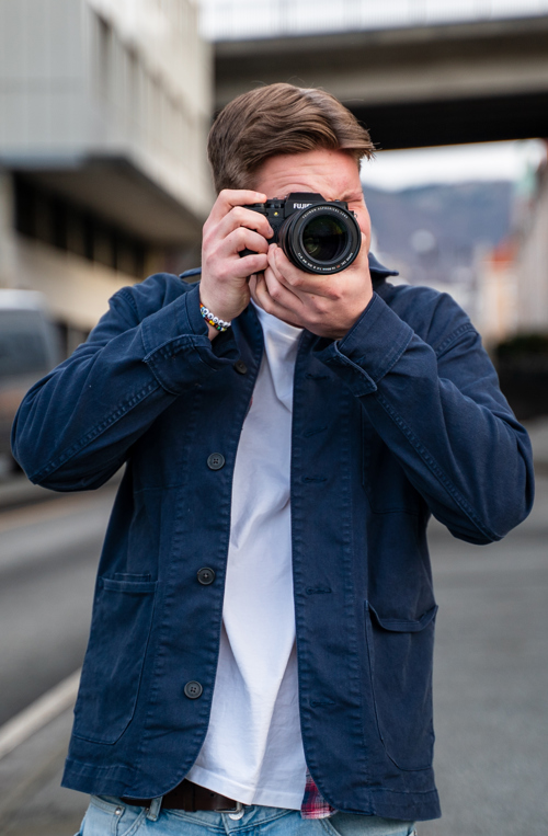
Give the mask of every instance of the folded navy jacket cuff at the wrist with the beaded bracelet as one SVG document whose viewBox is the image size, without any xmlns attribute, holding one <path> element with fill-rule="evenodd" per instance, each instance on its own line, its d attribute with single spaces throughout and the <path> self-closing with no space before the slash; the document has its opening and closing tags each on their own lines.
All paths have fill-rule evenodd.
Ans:
<svg viewBox="0 0 548 836">
<path fill-rule="evenodd" d="M 180 394 L 239 357 L 232 329 L 214 342 L 199 312 L 199 286 L 141 322 L 144 362 L 168 392 Z"/>
</svg>

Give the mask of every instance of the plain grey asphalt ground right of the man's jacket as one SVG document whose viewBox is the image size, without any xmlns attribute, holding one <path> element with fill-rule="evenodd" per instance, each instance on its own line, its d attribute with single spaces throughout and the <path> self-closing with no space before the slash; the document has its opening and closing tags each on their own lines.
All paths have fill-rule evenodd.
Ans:
<svg viewBox="0 0 548 836">
<path fill-rule="evenodd" d="M 548 479 L 486 547 L 431 527 L 435 770 L 443 818 L 420 836 L 548 834 Z"/>
</svg>

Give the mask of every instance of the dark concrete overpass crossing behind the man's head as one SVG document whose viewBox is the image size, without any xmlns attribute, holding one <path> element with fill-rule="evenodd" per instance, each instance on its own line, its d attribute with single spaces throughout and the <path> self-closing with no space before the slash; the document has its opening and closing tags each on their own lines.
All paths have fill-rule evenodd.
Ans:
<svg viewBox="0 0 548 836">
<path fill-rule="evenodd" d="M 322 87 L 379 148 L 548 137 L 548 15 L 215 44 L 216 107 Z"/>
</svg>

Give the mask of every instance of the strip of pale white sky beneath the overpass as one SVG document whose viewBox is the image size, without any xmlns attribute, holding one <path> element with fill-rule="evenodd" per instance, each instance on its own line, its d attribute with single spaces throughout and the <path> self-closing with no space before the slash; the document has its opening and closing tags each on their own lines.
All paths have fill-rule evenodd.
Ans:
<svg viewBox="0 0 548 836">
<path fill-rule="evenodd" d="M 546 145 L 539 139 L 379 151 L 362 163 L 362 180 L 387 191 L 430 183 L 515 182 L 545 159 Z"/>
</svg>

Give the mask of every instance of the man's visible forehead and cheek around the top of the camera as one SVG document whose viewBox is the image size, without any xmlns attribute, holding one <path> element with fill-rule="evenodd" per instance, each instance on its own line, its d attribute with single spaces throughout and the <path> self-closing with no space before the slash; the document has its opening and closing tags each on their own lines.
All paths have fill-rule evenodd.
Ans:
<svg viewBox="0 0 548 836">
<path fill-rule="evenodd" d="M 349 153 L 319 149 L 271 157 L 256 172 L 252 187 L 269 198 L 285 197 L 292 192 L 316 192 L 326 201 L 345 201 L 356 215 L 368 252 L 369 213 L 356 161 Z"/>
</svg>

